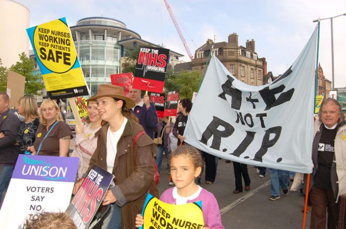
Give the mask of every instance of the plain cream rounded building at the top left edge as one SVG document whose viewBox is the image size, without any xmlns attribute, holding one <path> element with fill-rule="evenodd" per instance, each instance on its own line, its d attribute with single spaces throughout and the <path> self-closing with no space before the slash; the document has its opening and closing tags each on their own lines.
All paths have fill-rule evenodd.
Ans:
<svg viewBox="0 0 346 229">
<path fill-rule="evenodd" d="M 29 55 L 30 11 L 13 0 L 0 0 L 0 59 L 9 68 L 19 61 L 19 54 Z"/>
</svg>

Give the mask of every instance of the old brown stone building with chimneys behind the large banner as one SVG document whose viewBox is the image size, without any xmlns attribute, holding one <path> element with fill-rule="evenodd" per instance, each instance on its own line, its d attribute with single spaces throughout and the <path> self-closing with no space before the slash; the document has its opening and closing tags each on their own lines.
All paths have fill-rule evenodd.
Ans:
<svg viewBox="0 0 346 229">
<path fill-rule="evenodd" d="M 255 52 L 254 40 L 248 40 L 246 47 L 239 46 L 237 33 L 230 34 L 228 42 L 214 43 L 208 39 L 195 51 L 194 59 L 191 62 L 192 71 L 200 71 L 203 74 L 212 46 L 213 54 L 237 79 L 255 86 L 263 84 L 263 76 L 267 75 L 265 58 L 259 58 Z"/>
</svg>

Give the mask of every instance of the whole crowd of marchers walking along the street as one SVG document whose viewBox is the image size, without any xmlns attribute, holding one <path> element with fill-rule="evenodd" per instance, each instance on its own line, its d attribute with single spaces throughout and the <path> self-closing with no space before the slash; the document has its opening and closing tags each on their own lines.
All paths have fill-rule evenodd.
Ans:
<svg viewBox="0 0 346 229">
<path fill-rule="evenodd" d="M 69 153 L 73 135 L 56 100 L 47 98 L 38 109 L 32 96 L 21 97 L 17 109 L 24 120 L 20 121 L 9 110 L 8 95 L 0 92 L 0 202 L 5 196 L 18 154 L 79 157 L 73 194 L 78 192 L 94 164 L 114 175 L 102 200 L 102 205 L 111 206 L 103 228 L 141 227 L 144 219 L 140 213 L 147 193 L 159 198 L 154 177 L 166 166 L 163 165 L 166 156 L 171 175 L 167 183 L 173 187 L 166 190 L 160 199 L 169 204 L 201 200 L 204 228 L 223 229 L 216 198 L 199 186 L 203 170 L 205 182 L 210 185 L 215 182 L 219 158 L 185 144 L 184 130 L 192 108 L 191 100 L 184 98 L 179 101 L 176 117 L 158 118 L 149 96 L 141 94 L 141 90 L 131 86 L 125 95 L 122 87 L 101 84 L 96 95 L 87 99 L 88 116 L 82 125 L 76 125 L 75 147 Z M 312 229 L 336 228 L 338 204 L 341 196 L 346 194 L 345 124 L 339 102 L 332 98 L 324 99 L 314 127 L 314 167 L 310 185 L 306 187 L 305 176 L 299 187 L 302 193 L 309 191 L 308 212 L 311 211 Z M 236 180 L 233 193 L 249 191 L 251 180 L 247 165 L 233 162 L 233 167 Z M 265 176 L 266 168 L 258 167 L 258 171 L 259 177 Z M 303 176 L 271 168 L 269 173 L 271 201 L 280 199 L 280 188 L 283 195 L 287 195 L 289 182 L 302 180 Z M 62 219 L 68 222 L 70 219 L 66 217 L 64 214 L 42 214 L 26 219 L 24 227 L 42 227 L 35 220 L 40 218 L 47 218 L 45 222 L 51 224 Z M 34 224 L 36 226 L 29 226 Z"/>
</svg>

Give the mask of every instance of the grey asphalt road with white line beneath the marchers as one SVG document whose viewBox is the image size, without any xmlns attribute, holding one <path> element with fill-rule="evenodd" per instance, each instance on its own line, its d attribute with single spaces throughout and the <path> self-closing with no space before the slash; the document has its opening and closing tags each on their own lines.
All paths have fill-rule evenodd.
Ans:
<svg viewBox="0 0 346 229">
<path fill-rule="evenodd" d="M 70 152 L 74 148 L 71 141 Z M 164 157 L 161 169 L 159 191 L 162 194 L 168 185 L 167 160 Z M 235 179 L 233 164 L 219 160 L 216 180 L 213 184 L 206 184 L 204 176 L 201 186 L 212 192 L 220 207 L 222 223 L 225 229 L 300 229 L 303 224 L 304 197 L 297 192 L 281 195 L 276 201 L 268 200 L 270 194 L 269 170 L 264 178 L 259 178 L 254 166 L 248 166 L 251 189 L 239 194 L 233 194 Z M 306 228 L 310 226 L 310 214 L 307 215 Z"/>
</svg>

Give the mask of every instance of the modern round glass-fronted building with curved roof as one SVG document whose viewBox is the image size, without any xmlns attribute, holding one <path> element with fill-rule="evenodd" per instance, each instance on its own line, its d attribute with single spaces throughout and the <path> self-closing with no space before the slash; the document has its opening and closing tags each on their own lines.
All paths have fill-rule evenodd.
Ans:
<svg viewBox="0 0 346 229">
<path fill-rule="evenodd" d="M 91 96 L 99 84 L 110 83 L 110 74 L 121 73 L 121 58 L 127 50 L 137 45 L 157 46 L 142 40 L 124 22 L 107 17 L 83 18 L 71 32 Z M 182 56 L 170 52 L 171 60 Z"/>
</svg>

